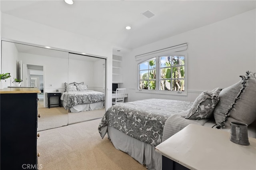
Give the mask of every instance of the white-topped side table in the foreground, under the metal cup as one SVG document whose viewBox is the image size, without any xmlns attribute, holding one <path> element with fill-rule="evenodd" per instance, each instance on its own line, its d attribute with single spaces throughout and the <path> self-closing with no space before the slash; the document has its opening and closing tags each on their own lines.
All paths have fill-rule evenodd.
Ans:
<svg viewBox="0 0 256 170">
<path fill-rule="evenodd" d="M 250 145 L 244 146 L 229 137 L 224 130 L 190 124 L 155 149 L 191 170 L 256 170 L 256 138 L 249 137 Z"/>
</svg>

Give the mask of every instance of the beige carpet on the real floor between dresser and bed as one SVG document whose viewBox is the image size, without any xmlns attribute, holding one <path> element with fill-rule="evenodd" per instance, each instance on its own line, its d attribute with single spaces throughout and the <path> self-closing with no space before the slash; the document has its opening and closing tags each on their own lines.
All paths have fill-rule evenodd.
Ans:
<svg viewBox="0 0 256 170">
<path fill-rule="evenodd" d="M 40 132 L 41 170 L 146 170 L 98 132 L 101 119 Z"/>
</svg>

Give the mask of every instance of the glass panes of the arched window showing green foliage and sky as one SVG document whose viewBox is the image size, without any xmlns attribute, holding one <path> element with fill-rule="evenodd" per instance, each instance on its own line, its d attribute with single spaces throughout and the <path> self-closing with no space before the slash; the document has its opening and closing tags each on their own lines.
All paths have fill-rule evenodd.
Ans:
<svg viewBox="0 0 256 170">
<path fill-rule="evenodd" d="M 159 90 L 185 90 L 185 59 L 184 56 L 159 57 Z M 139 64 L 139 89 L 156 90 L 156 58 Z"/>
</svg>

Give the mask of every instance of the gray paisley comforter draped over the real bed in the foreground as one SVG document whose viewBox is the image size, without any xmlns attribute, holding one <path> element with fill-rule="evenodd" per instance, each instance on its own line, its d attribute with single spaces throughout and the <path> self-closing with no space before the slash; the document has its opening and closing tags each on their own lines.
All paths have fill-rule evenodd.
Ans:
<svg viewBox="0 0 256 170">
<path fill-rule="evenodd" d="M 102 117 L 98 131 L 103 138 L 107 127 L 114 127 L 142 142 L 157 146 L 162 142 L 168 117 L 190 109 L 193 102 L 146 99 L 113 105 Z"/>
</svg>

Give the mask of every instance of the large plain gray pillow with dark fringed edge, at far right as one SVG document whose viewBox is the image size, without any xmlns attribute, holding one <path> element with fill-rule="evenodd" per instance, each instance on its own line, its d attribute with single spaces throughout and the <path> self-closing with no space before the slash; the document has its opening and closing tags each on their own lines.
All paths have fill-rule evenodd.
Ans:
<svg viewBox="0 0 256 170">
<path fill-rule="evenodd" d="M 217 128 L 230 128 L 232 121 L 250 125 L 256 119 L 255 73 L 246 71 L 238 83 L 220 92 L 220 101 L 214 109 Z"/>
</svg>

